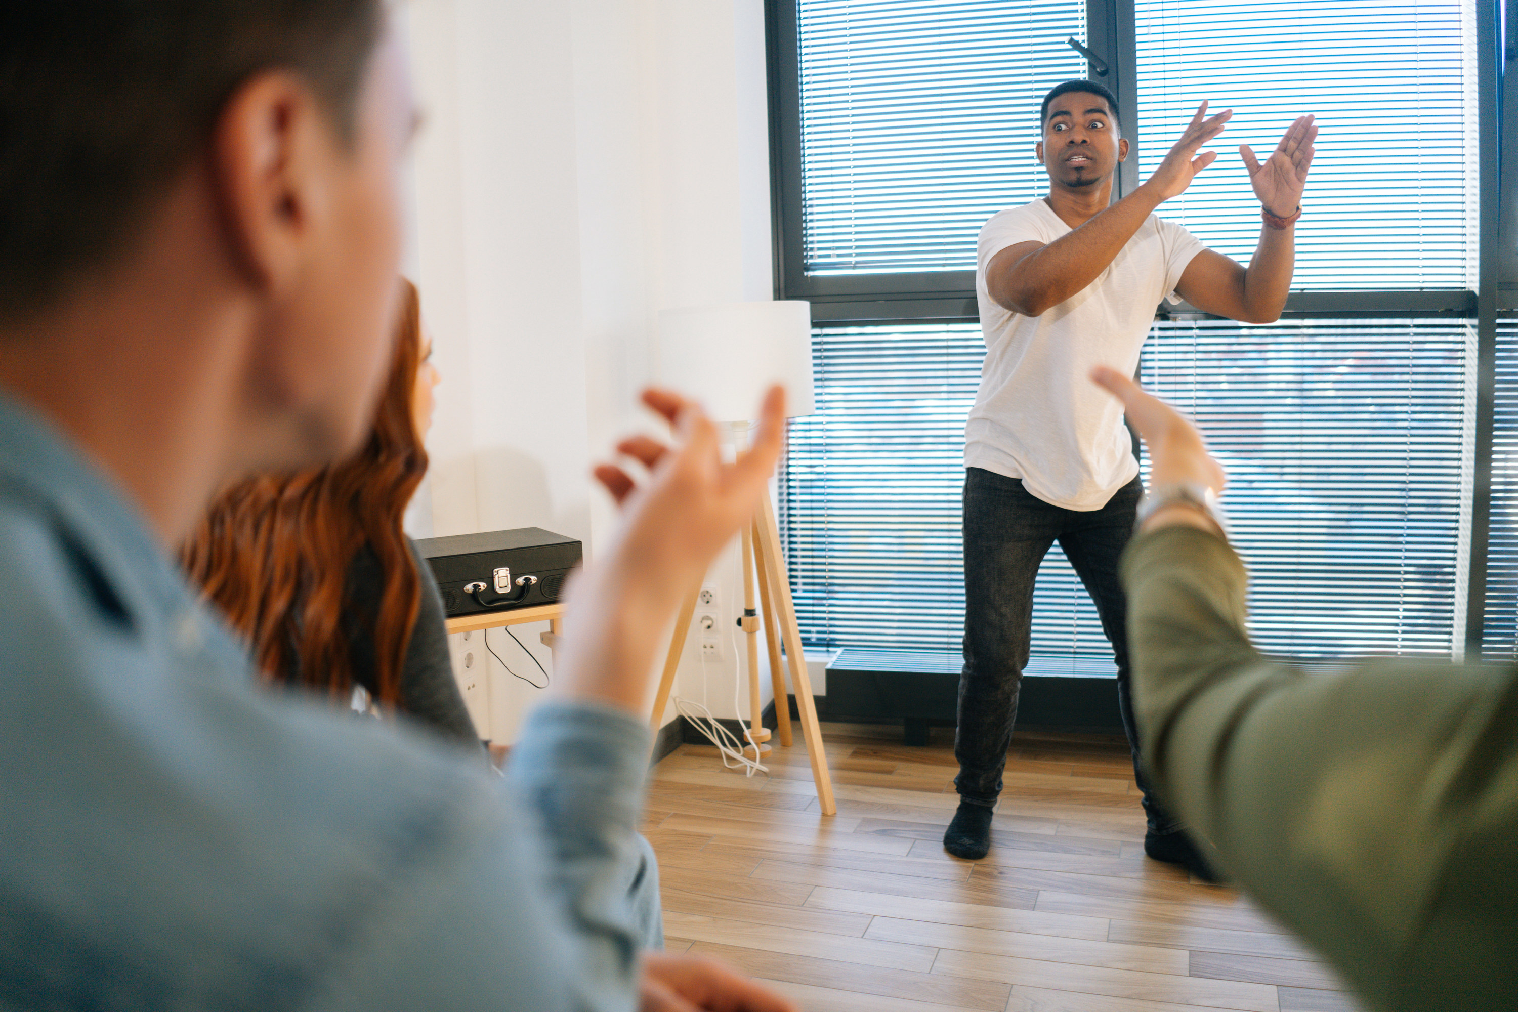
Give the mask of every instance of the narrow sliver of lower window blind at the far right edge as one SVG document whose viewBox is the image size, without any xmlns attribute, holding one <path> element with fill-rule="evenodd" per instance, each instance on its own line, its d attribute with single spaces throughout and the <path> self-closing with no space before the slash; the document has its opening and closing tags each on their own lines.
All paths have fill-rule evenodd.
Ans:
<svg viewBox="0 0 1518 1012">
<path fill-rule="evenodd" d="M 1497 320 L 1492 511 L 1486 545 L 1482 654 L 1518 660 L 1518 319 Z"/>
</svg>

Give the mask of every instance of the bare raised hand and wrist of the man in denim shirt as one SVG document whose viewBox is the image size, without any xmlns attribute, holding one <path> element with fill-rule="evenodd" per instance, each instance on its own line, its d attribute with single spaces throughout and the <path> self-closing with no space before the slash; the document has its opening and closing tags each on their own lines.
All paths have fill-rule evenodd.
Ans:
<svg viewBox="0 0 1518 1012">
<path fill-rule="evenodd" d="M 622 507 L 622 525 L 574 581 L 565 608 L 556 692 L 642 713 L 654 655 L 680 601 L 753 517 L 785 431 L 785 391 L 771 387 L 748 451 L 721 458 L 716 426 L 700 405 L 668 390 L 644 404 L 674 428 L 674 443 L 635 435 L 618 454 L 648 469 L 639 484 L 601 464 L 597 479 Z"/>
</svg>

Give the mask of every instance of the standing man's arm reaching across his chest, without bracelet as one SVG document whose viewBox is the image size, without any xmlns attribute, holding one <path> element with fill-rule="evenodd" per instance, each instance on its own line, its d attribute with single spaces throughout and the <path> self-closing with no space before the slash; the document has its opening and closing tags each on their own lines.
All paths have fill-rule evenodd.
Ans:
<svg viewBox="0 0 1518 1012">
<path fill-rule="evenodd" d="M 1217 155 L 1198 149 L 1224 132 L 1233 111 L 1205 117 L 1204 102 L 1190 126 L 1146 184 L 1053 243 L 1008 246 L 985 267 L 985 285 L 997 303 L 1022 316 L 1041 316 L 1107 270 L 1123 244 L 1157 206 L 1186 193 L 1196 173 Z"/>
</svg>

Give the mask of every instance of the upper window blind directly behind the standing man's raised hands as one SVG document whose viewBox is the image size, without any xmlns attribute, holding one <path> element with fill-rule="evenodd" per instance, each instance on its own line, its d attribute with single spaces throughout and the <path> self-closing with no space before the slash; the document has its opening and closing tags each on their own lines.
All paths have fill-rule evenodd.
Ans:
<svg viewBox="0 0 1518 1012">
<path fill-rule="evenodd" d="M 1234 118 L 1217 161 L 1160 214 L 1248 262 L 1258 202 L 1239 144 L 1322 130 L 1296 228 L 1295 288 L 1475 288 L 1474 0 L 1135 0 L 1138 167 L 1202 99 Z"/>
</svg>

